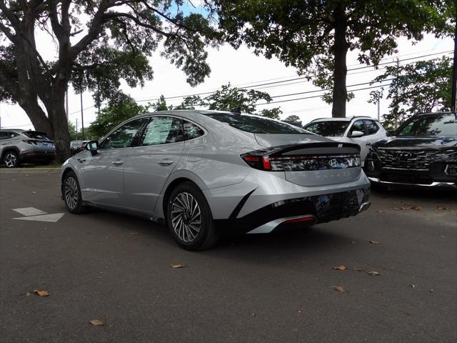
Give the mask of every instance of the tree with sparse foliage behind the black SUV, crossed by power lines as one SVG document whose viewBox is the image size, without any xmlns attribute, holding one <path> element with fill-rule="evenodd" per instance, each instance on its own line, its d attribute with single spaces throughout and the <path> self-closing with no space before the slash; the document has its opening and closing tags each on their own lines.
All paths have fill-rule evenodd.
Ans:
<svg viewBox="0 0 457 343">
<path fill-rule="evenodd" d="M 404 66 L 388 66 L 386 72 L 373 83 L 392 79 L 386 99 L 390 99 L 389 113 L 383 115 L 383 124 L 396 126 L 409 116 L 432 111 L 451 109 L 451 59 L 443 56 L 428 61 L 418 61 Z M 383 96 L 381 91 L 372 91 L 369 102 Z"/>
</svg>

